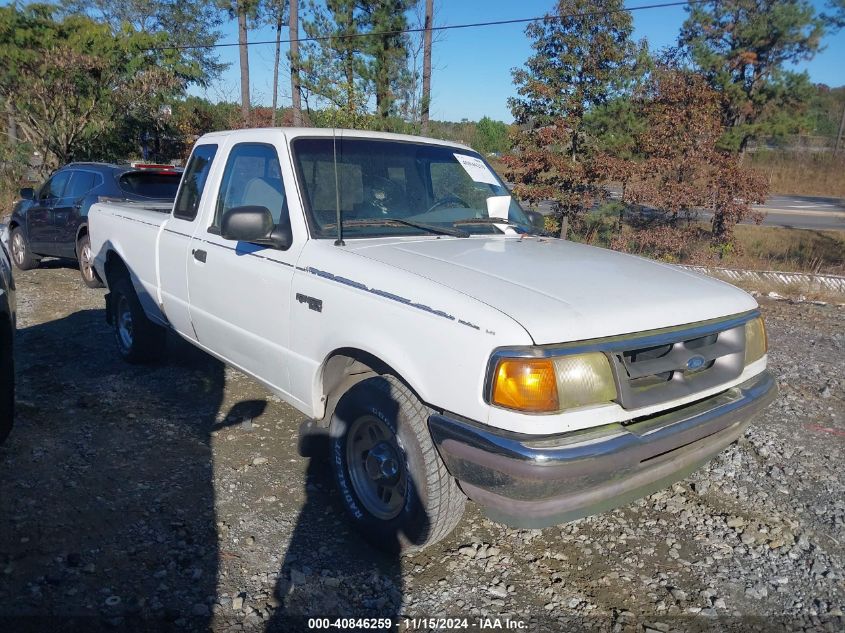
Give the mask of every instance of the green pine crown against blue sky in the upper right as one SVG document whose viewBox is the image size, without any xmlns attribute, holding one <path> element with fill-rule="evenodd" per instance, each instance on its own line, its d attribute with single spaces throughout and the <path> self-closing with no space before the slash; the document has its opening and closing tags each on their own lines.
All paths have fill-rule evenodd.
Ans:
<svg viewBox="0 0 845 633">
<path fill-rule="evenodd" d="M 812 86 L 787 70 L 819 50 L 824 20 L 808 0 L 719 0 L 691 5 L 679 44 L 721 96 L 725 148 L 806 126 Z"/>
</svg>

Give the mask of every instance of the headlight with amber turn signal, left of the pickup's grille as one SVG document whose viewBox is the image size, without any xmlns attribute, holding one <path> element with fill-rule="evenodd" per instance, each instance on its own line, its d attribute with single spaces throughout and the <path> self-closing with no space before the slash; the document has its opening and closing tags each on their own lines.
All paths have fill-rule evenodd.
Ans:
<svg viewBox="0 0 845 633">
<path fill-rule="evenodd" d="M 502 359 L 490 393 L 492 404 L 528 413 L 554 413 L 615 398 L 610 363 L 599 352 Z"/>
</svg>

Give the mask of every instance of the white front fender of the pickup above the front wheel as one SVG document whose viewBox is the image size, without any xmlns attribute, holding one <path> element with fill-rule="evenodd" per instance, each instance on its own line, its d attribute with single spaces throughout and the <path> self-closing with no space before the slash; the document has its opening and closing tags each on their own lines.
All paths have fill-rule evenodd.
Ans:
<svg viewBox="0 0 845 633">
<path fill-rule="evenodd" d="M 352 348 L 388 365 L 432 407 L 485 421 L 490 354 L 512 341 L 531 344 L 528 333 L 509 316 L 435 281 L 312 244 L 292 284 L 290 378 L 292 395 L 312 403 L 313 417 L 325 409 L 326 360 Z M 308 299 L 320 301 L 320 309 Z"/>
</svg>

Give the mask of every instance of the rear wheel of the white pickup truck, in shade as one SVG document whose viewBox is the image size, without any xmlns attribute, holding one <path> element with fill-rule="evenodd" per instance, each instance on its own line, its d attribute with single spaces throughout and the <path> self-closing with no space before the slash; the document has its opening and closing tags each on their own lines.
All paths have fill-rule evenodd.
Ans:
<svg viewBox="0 0 845 633">
<path fill-rule="evenodd" d="M 128 363 L 150 363 L 161 358 L 167 330 L 147 318 L 132 282 L 125 275 L 111 287 L 112 328 L 117 351 Z"/>
</svg>

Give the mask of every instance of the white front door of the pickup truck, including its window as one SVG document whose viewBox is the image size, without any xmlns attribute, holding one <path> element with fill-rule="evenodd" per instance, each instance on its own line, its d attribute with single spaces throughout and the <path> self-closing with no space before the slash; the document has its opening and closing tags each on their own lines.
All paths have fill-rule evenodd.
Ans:
<svg viewBox="0 0 845 633">
<path fill-rule="evenodd" d="M 282 251 L 220 234 L 221 218 L 234 207 L 266 207 L 276 224 L 290 222 L 287 191 L 295 189 L 284 180 L 279 148 L 260 135 L 231 147 L 213 213 L 191 241 L 188 287 L 199 343 L 288 393 L 291 283 L 304 238 L 294 233 L 292 246 Z"/>
</svg>

